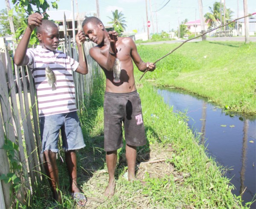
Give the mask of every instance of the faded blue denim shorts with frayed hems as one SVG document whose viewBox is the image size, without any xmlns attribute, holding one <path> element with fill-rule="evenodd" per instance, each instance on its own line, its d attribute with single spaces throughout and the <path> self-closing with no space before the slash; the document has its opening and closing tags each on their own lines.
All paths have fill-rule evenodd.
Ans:
<svg viewBox="0 0 256 209">
<path fill-rule="evenodd" d="M 76 112 L 39 117 L 42 153 L 46 150 L 58 152 L 58 139 L 61 130 L 64 151 L 85 147 L 81 125 Z"/>
</svg>

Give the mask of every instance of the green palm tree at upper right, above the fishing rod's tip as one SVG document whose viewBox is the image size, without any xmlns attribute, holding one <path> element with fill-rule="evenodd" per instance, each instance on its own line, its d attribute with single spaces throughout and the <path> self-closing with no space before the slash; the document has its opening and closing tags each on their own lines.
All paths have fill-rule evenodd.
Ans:
<svg viewBox="0 0 256 209">
<path fill-rule="evenodd" d="M 224 17 L 224 15 L 221 16 L 221 14 L 222 14 L 221 8 L 223 8 L 223 7 L 224 7 L 224 5 L 220 2 L 215 2 L 213 4 L 213 7 L 209 6 L 210 12 L 207 12 L 204 15 L 206 21 L 208 22 L 209 28 L 215 28 L 216 26 L 221 25 L 221 21 L 222 21 L 222 24 L 225 24 L 223 21 L 224 18 L 222 18 L 222 17 Z M 231 9 L 226 8 L 225 19 L 226 20 L 231 19 L 232 14 L 233 14 L 233 11 Z"/>
</svg>

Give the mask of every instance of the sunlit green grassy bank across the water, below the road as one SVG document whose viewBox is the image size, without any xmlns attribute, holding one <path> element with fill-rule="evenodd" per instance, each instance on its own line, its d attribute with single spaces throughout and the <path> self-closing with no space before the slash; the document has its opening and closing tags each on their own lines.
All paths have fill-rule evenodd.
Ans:
<svg viewBox="0 0 256 209">
<path fill-rule="evenodd" d="M 138 51 L 144 60 L 156 61 L 178 45 L 140 45 Z M 255 57 L 256 43 L 186 43 L 143 79 L 197 93 L 228 110 L 256 114 Z"/>
</svg>

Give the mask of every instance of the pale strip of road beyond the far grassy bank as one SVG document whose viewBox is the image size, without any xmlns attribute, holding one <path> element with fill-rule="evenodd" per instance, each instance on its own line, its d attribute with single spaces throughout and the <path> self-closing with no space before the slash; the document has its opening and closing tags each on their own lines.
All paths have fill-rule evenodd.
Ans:
<svg viewBox="0 0 256 209">
<path fill-rule="evenodd" d="M 245 41 L 244 36 L 234 36 L 234 37 L 215 37 L 215 38 L 206 38 L 207 41 Z M 157 42 L 148 42 L 148 43 L 142 43 L 143 45 L 150 45 L 150 44 L 173 44 L 173 43 L 181 43 L 185 41 L 185 39 L 182 40 L 173 40 L 173 41 L 157 41 Z M 202 38 L 196 38 L 188 42 L 198 42 L 202 41 Z M 250 36 L 250 41 L 256 42 L 256 36 Z"/>
</svg>

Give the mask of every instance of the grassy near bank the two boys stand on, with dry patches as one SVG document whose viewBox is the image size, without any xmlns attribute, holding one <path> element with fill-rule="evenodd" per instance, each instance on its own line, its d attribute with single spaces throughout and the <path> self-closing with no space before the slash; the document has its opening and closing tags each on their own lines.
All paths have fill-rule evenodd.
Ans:
<svg viewBox="0 0 256 209">
<path fill-rule="evenodd" d="M 119 149 L 116 193 L 112 199 L 106 199 L 103 194 L 108 172 L 103 151 L 102 85 L 104 82 L 99 81 L 99 92 L 93 95 L 90 107 L 81 116 L 87 146 L 77 155 L 78 177 L 88 198 L 87 208 L 243 208 L 239 197 L 231 193 L 233 186 L 223 176 L 224 169 L 206 157 L 203 146 L 198 146 L 187 127 L 186 116 L 175 115 L 146 81 L 137 85 L 148 141 L 138 148 L 137 156 L 137 177 L 144 184 L 126 180 L 125 151 Z M 60 208 L 75 208 L 67 192 L 66 166 L 60 158 L 58 164 L 64 199 Z M 34 200 L 32 208 L 50 205 L 49 189 L 41 187 L 41 193 L 44 195 Z"/>
</svg>

